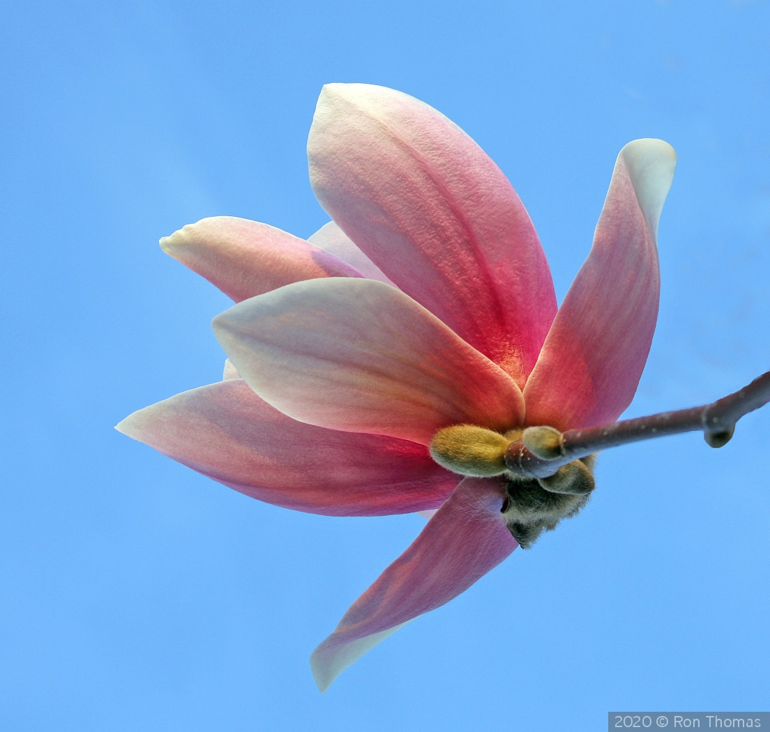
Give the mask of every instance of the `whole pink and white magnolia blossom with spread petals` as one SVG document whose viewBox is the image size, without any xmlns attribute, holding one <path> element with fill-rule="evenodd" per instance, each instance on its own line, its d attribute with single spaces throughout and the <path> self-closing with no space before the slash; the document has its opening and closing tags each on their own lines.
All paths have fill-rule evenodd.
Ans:
<svg viewBox="0 0 770 732">
<path fill-rule="evenodd" d="M 213 323 L 229 360 L 222 382 L 118 429 L 277 506 L 437 509 L 316 648 L 325 690 L 529 542 L 511 518 L 521 490 L 567 502 L 538 519 L 535 537 L 585 502 L 590 460 L 578 471 L 588 483 L 551 493 L 547 481 L 517 483 L 500 450 L 527 426 L 597 426 L 631 402 L 658 314 L 658 217 L 675 153 L 656 139 L 621 150 L 591 252 L 558 309 L 513 187 L 430 106 L 327 85 L 308 158 L 333 219 L 309 240 L 230 217 L 161 240 L 238 303 Z"/>
</svg>

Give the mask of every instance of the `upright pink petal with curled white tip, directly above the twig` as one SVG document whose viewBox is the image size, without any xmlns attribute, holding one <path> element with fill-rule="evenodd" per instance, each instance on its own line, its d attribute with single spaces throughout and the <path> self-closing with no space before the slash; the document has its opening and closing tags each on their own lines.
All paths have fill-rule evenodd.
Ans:
<svg viewBox="0 0 770 732">
<path fill-rule="evenodd" d="M 656 139 L 618 155 L 594 246 L 524 389 L 528 425 L 613 422 L 634 398 L 658 318 L 658 219 L 675 164 Z"/>
</svg>

